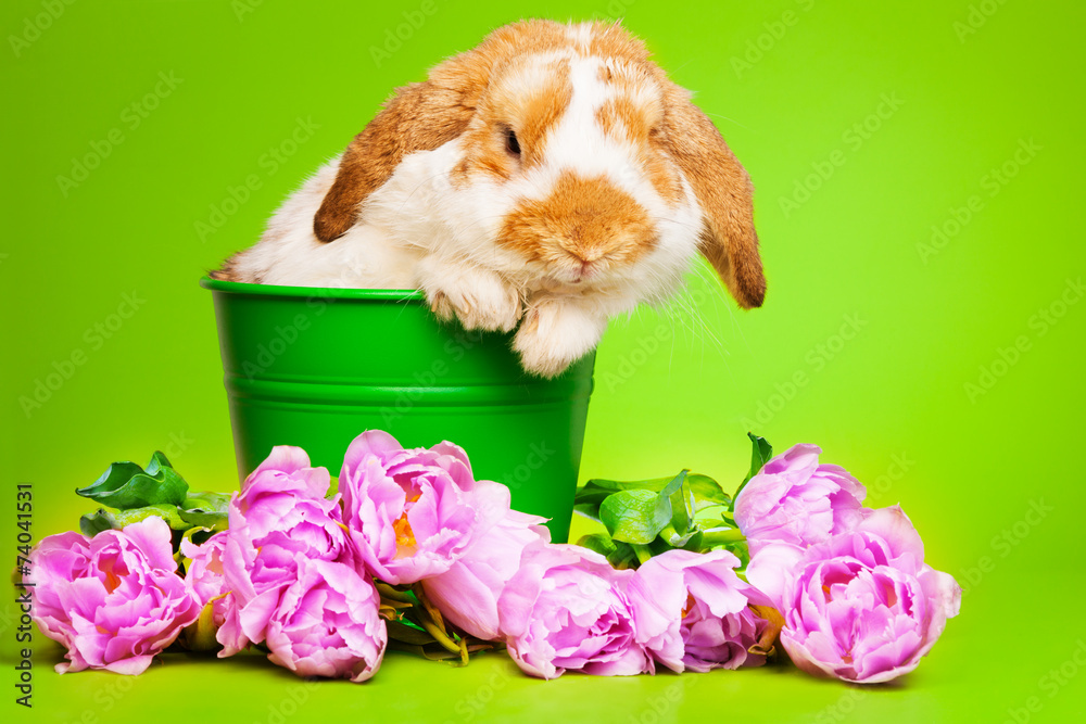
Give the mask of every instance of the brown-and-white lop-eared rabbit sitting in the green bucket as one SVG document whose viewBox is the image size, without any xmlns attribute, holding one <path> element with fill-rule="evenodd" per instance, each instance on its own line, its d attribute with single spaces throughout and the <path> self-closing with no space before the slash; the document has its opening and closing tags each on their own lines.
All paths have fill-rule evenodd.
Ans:
<svg viewBox="0 0 1086 724">
<path fill-rule="evenodd" d="M 743 308 L 766 279 L 753 187 L 712 122 L 618 23 L 521 21 L 397 90 L 214 276 L 419 289 L 512 332 L 554 377 L 700 253 Z"/>
</svg>

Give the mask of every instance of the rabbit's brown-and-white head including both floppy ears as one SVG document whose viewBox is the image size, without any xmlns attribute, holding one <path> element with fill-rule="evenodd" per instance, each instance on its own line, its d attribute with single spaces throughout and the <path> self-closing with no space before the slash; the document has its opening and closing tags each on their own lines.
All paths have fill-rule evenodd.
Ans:
<svg viewBox="0 0 1086 724">
<path fill-rule="evenodd" d="M 761 305 L 746 172 L 617 24 L 508 25 L 401 89 L 343 154 L 317 238 L 365 219 L 406 157 L 441 148 L 458 213 L 476 217 L 454 226 L 497 271 L 651 287 L 698 250 L 741 306 Z"/>
</svg>

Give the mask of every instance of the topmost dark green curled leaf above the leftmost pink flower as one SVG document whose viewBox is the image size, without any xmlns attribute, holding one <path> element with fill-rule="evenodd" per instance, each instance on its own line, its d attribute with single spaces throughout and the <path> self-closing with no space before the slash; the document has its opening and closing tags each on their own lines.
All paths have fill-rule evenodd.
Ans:
<svg viewBox="0 0 1086 724">
<path fill-rule="evenodd" d="M 185 503 L 189 484 L 155 450 L 144 471 L 135 462 L 114 462 L 98 480 L 76 493 L 100 505 L 128 510 L 151 505 Z"/>
</svg>

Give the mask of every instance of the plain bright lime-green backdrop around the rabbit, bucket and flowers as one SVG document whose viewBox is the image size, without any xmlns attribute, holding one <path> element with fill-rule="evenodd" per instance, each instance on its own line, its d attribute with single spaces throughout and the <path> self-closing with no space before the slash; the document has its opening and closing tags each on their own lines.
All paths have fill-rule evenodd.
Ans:
<svg viewBox="0 0 1086 724">
<path fill-rule="evenodd" d="M 467 670 L 390 657 L 365 686 L 305 686 L 255 657 L 169 657 L 136 679 L 56 676 L 58 651 L 38 636 L 30 716 L 1081 715 L 1082 5 L 432 3 L 387 58 L 372 48 L 420 2 L 3 3 L 8 505 L 16 482 L 31 482 L 36 535 L 70 529 L 87 507 L 74 487 L 155 448 L 197 487 L 236 485 L 200 276 L 253 243 L 280 200 L 393 87 L 505 22 L 621 16 L 696 91 L 750 172 L 769 294 L 762 309 L 738 312 L 699 267 L 670 308 L 615 320 L 598 351 L 582 479 L 689 467 L 734 484 L 749 427 L 779 450 L 818 443 L 823 460 L 868 484 L 871 504 L 901 503 L 929 562 L 968 586 L 961 615 L 917 672 L 862 689 L 786 668 L 543 684 L 498 656 Z M 55 18 L 42 15 L 49 8 Z M 283 148 L 299 119 L 317 128 Z M 87 154 L 88 165 L 101 156 L 96 168 L 74 186 L 59 180 L 75 180 Z M 258 188 L 216 217 L 250 175 Z M 938 245 L 933 226 L 947 234 Z M 125 294 L 138 309 L 111 317 Z M 73 354 L 83 364 L 27 411 L 20 399 Z M 2 520 L 2 549 L 13 556 L 13 516 Z M 8 655 L 17 624 L 10 601 L 0 607 Z M 5 661 L 0 707 L 25 713 Z"/>
</svg>

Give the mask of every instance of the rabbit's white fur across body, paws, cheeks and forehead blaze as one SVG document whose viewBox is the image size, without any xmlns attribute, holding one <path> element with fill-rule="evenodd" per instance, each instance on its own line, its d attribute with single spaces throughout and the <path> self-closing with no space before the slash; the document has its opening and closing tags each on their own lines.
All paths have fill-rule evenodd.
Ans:
<svg viewBox="0 0 1086 724">
<path fill-rule="evenodd" d="M 586 28 L 570 33 L 588 42 Z M 561 56 L 561 53 L 558 53 Z M 235 259 L 242 281 L 269 284 L 421 289 L 441 317 L 467 328 L 513 330 L 525 368 L 560 372 L 599 341 L 607 318 L 640 301 L 667 299 L 681 287 L 697 251 L 702 211 L 682 179 L 683 198 L 669 204 L 636 163 L 635 149 L 599 128 L 595 112 L 615 91 L 598 79 L 598 58 L 566 55 L 573 96 L 548 136 L 544 164 L 508 182 L 472 178 L 456 186 L 451 174 L 464 156 L 462 140 L 405 156 L 366 200 L 346 234 L 323 243 L 313 217 L 334 180 L 333 158 L 293 193 L 267 231 Z M 518 81 L 538 82 L 554 53 L 539 58 Z M 652 86 L 643 92 L 655 92 Z M 495 243 L 504 217 L 525 199 L 545 198 L 564 172 L 605 176 L 633 196 L 655 221 L 658 244 L 633 265 L 604 269 L 591 282 L 529 265 Z"/>
</svg>

